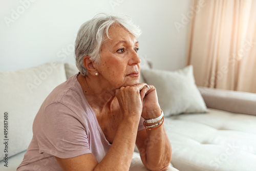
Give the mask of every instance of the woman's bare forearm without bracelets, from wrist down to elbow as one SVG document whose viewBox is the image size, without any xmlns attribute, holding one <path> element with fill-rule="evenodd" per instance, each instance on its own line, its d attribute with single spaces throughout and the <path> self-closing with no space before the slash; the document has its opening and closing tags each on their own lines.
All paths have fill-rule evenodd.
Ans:
<svg viewBox="0 0 256 171">
<path fill-rule="evenodd" d="M 94 170 L 129 170 L 138 131 L 139 118 L 123 119 L 108 153 Z"/>
</svg>

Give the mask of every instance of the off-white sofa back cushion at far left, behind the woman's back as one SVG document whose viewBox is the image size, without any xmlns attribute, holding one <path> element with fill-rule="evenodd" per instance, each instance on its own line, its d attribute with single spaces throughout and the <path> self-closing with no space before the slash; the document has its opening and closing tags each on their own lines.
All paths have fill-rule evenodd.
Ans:
<svg viewBox="0 0 256 171">
<path fill-rule="evenodd" d="M 63 63 L 51 62 L 16 71 L 0 72 L 0 111 L 8 113 L 8 157 L 25 151 L 32 139 L 32 124 L 41 103 L 66 80 Z M 0 125 L 3 125 L 3 117 Z M 4 135 L 3 129 L 0 134 Z M 4 149 L 1 143 L 0 148 Z M 5 153 L 0 153 L 3 159 Z"/>
</svg>

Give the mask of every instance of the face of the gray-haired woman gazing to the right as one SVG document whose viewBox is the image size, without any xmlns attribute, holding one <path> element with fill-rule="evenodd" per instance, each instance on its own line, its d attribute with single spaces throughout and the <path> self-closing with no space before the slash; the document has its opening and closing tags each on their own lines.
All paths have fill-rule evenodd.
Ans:
<svg viewBox="0 0 256 171">
<path fill-rule="evenodd" d="M 111 26 L 109 38 L 101 47 L 101 61 L 96 69 L 104 86 L 120 88 L 139 83 L 139 43 L 134 35 L 120 26 Z"/>
</svg>

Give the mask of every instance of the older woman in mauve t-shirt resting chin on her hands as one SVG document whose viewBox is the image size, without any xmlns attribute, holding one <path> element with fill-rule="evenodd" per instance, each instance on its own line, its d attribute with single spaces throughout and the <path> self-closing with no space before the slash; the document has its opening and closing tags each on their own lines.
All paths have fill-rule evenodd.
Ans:
<svg viewBox="0 0 256 171">
<path fill-rule="evenodd" d="M 17 170 L 129 170 L 135 144 L 145 167 L 168 168 L 172 148 L 156 89 L 139 83 L 139 34 L 129 19 L 111 15 L 80 27 L 79 73 L 42 103 Z"/>
</svg>

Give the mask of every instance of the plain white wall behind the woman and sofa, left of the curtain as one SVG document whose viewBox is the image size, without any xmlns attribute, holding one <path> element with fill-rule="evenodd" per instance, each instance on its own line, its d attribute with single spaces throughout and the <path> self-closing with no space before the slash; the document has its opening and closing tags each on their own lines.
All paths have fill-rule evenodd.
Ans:
<svg viewBox="0 0 256 171">
<path fill-rule="evenodd" d="M 188 25 L 177 31 L 189 0 L 0 0 L 0 70 L 47 61 L 74 62 L 80 25 L 99 12 L 122 12 L 139 25 L 139 55 L 156 69 L 185 66 Z M 17 13 L 16 13 L 17 12 Z M 16 13 L 16 14 L 15 14 Z"/>
</svg>

